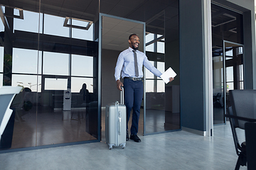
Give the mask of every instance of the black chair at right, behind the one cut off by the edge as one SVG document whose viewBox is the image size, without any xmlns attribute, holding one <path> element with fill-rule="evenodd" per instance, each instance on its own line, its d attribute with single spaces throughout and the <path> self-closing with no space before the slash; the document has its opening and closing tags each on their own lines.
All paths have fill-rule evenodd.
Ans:
<svg viewBox="0 0 256 170">
<path fill-rule="evenodd" d="M 245 130 L 245 123 L 256 122 L 256 90 L 233 90 L 230 91 L 230 104 L 228 115 L 235 143 L 235 151 L 238 154 L 238 162 L 235 170 L 247 164 L 246 142 L 240 144 L 236 128 Z"/>
</svg>

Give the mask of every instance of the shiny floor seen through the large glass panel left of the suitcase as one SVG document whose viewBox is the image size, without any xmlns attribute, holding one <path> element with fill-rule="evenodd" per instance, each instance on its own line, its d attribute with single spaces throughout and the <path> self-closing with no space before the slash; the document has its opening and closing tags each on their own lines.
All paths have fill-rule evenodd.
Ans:
<svg viewBox="0 0 256 170">
<path fill-rule="evenodd" d="M 85 109 L 16 111 L 11 149 L 97 140 L 86 132 Z"/>
</svg>

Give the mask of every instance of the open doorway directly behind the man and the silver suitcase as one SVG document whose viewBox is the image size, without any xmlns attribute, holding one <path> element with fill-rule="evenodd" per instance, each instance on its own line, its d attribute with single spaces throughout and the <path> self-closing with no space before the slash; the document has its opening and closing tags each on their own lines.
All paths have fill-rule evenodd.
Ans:
<svg viewBox="0 0 256 170">
<path fill-rule="evenodd" d="M 120 91 L 114 79 L 114 68 L 119 53 L 129 47 L 129 35 L 136 33 L 139 36 L 139 51 L 144 52 L 144 23 L 127 18 L 100 13 L 100 59 L 102 67 L 102 141 L 105 141 L 105 106 L 108 103 L 120 102 Z M 123 79 L 120 79 L 123 82 Z M 132 113 L 128 127 L 132 124 Z M 144 105 L 142 102 L 139 116 L 138 135 L 144 135 Z"/>
</svg>

